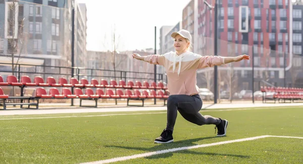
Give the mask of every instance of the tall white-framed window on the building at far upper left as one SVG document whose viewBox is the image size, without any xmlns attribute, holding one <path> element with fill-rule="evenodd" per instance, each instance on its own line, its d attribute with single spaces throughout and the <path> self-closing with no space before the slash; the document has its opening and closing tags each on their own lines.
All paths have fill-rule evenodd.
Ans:
<svg viewBox="0 0 303 164">
<path fill-rule="evenodd" d="M 18 36 L 18 3 L 5 3 L 5 38 L 17 39 Z"/>
</svg>

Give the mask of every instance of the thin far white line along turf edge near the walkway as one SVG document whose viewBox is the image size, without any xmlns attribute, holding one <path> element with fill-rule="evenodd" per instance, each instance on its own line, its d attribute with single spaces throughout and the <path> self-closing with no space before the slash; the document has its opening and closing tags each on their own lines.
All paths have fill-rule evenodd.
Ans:
<svg viewBox="0 0 303 164">
<path fill-rule="evenodd" d="M 277 107 L 279 109 L 283 107 Z M 219 109 L 219 110 L 201 110 L 200 112 L 222 112 L 222 111 L 245 111 L 245 110 L 261 110 L 264 108 L 240 108 L 240 109 Z M 272 109 L 267 107 L 265 109 Z M 164 114 L 167 112 L 150 112 L 150 113 L 122 113 L 122 114 L 104 114 L 104 115 L 86 115 L 86 116 L 54 116 L 54 117 L 24 117 L 24 118 L 0 118 L 0 120 L 24 120 L 24 119 L 44 119 L 44 118 L 73 118 L 73 117 L 101 117 L 101 116 L 120 116 L 120 115 L 143 115 L 143 114 Z M 55 114 L 55 113 L 54 113 Z M 65 113 L 72 114 L 72 113 Z"/>
</svg>

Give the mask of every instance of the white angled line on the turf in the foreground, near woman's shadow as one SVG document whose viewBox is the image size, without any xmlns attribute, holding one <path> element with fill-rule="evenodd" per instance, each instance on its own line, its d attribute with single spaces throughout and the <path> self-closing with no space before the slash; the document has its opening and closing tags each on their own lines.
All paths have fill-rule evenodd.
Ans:
<svg viewBox="0 0 303 164">
<path fill-rule="evenodd" d="M 158 155 L 158 154 L 163 154 L 163 153 L 168 153 L 168 152 L 174 152 L 174 151 L 180 151 L 180 150 L 188 150 L 188 149 L 193 149 L 193 148 L 216 146 L 216 145 L 222 145 L 222 144 L 234 143 L 234 142 L 243 142 L 243 141 L 255 140 L 255 139 L 260 139 L 260 138 L 267 138 L 267 137 L 303 139 L 303 137 L 262 135 L 262 136 L 257 136 L 257 137 L 249 137 L 249 138 L 235 139 L 235 140 L 229 140 L 229 141 L 221 141 L 221 142 L 201 144 L 201 145 L 194 145 L 194 146 L 177 147 L 177 148 L 171 148 L 171 149 L 166 149 L 166 150 L 158 150 L 158 151 L 146 152 L 146 153 L 142 153 L 142 154 L 135 154 L 135 155 L 129 155 L 129 156 L 122 156 L 122 157 L 116 157 L 116 158 L 111 158 L 111 159 L 105 159 L 105 160 L 85 162 L 85 163 L 82 163 L 82 164 L 92 164 L 92 163 L 95 164 L 95 163 L 117 162 L 117 161 L 123 161 L 123 160 L 128 160 L 128 159 L 135 159 L 135 158 L 146 157 L 146 156 L 151 156 L 151 155 Z"/>
</svg>

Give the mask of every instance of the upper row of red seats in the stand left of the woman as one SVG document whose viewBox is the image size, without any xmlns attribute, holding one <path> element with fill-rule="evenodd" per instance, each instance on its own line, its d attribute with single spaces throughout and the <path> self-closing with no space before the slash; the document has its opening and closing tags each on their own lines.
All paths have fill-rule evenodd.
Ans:
<svg viewBox="0 0 303 164">
<path fill-rule="evenodd" d="M 79 83 L 80 82 L 80 83 Z M 157 90 L 167 90 L 167 88 L 164 86 L 164 84 L 159 81 L 158 86 L 155 81 L 152 81 L 149 85 L 147 81 L 143 81 L 143 85 L 140 81 L 136 80 L 136 84 L 134 85 L 132 80 L 127 81 L 127 85 L 124 80 L 119 80 L 119 85 L 117 84 L 117 81 L 114 79 L 111 79 L 110 84 L 108 84 L 108 81 L 105 79 L 102 79 L 100 81 L 100 85 L 98 83 L 98 80 L 92 78 L 90 80 L 90 84 L 88 83 L 88 80 L 86 78 L 81 78 L 80 81 L 78 79 L 71 77 L 70 83 L 68 84 L 68 81 L 64 77 L 59 78 L 59 84 L 57 84 L 56 79 L 53 76 L 49 76 L 46 78 L 46 83 L 44 83 L 44 80 L 41 76 L 35 76 L 34 77 L 34 83 L 32 83 L 32 80 L 29 76 L 22 76 L 21 81 L 18 82 L 18 79 L 14 75 L 7 76 L 7 82 L 4 82 L 2 76 L 0 75 L 0 86 L 20 86 L 20 87 L 26 87 L 26 86 L 32 86 L 32 87 L 77 87 L 77 88 L 120 88 L 120 89 L 157 89 Z"/>
</svg>

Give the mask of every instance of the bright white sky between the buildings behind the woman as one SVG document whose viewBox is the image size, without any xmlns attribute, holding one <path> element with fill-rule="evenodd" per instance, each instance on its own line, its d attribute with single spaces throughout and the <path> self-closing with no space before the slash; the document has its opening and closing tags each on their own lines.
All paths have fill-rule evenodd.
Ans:
<svg viewBox="0 0 303 164">
<path fill-rule="evenodd" d="M 87 45 L 91 51 L 112 50 L 115 27 L 118 51 L 160 48 L 160 28 L 182 21 L 190 0 L 78 0 L 87 8 Z"/>
</svg>

